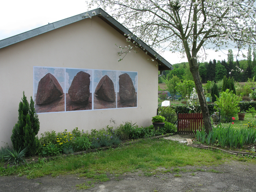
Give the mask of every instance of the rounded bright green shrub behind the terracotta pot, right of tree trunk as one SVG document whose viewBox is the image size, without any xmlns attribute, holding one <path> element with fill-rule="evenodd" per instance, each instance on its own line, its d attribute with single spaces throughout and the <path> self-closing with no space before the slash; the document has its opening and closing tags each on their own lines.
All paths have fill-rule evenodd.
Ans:
<svg viewBox="0 0 256 192">
<path fill-rule="evenodd" d="M 227 89 L 225 92 L 221 92 L 221 97 L 217 98 L 215 103 L 221 109 L 222 119 L 235 116 L 240 111 L 238 107 L 240 101 L 241 98 L 237 97 L 234 93 L 229 91 L 229 89 Z M 215 109 L 217 109 L 217 106 Z"/>
</svg>

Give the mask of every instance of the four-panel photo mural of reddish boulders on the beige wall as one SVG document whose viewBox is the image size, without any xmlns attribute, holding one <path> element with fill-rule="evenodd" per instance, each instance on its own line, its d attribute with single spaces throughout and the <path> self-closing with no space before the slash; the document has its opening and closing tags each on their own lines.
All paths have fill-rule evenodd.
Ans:
<svg viewBox="0 0 256 192">
<path fill-rule="evenodd" d="M 137 72 L 34 66 L 34 96 L 37 113 L 137 107 Z"/>
</svg>

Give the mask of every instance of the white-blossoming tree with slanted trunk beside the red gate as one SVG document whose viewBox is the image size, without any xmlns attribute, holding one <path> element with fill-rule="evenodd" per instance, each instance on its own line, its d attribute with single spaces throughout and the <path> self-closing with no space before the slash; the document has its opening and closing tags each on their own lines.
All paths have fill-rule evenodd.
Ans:
<svg viewBox="0 0 256 192">
<path fill-rule="evenodd" d="M 199 56 L 205 49 L 218 50 L 229 43 L 238 49 L 255 44 L 254 2 L 255 0 L 92 0 L 88 4 L 98 4 L 106 10 L 110 9 L 113 17 L 123 21 L 133 34 L 155 50 L 162 47 L 161 50 L 167 48 L 187 56 L 205 129 L 209 132 L 212 126 L 198 72 Z"/>
</svg>

